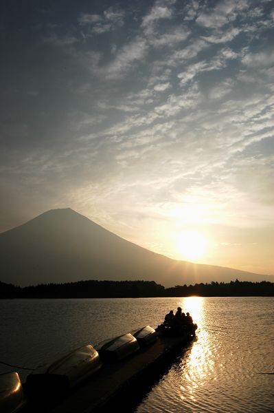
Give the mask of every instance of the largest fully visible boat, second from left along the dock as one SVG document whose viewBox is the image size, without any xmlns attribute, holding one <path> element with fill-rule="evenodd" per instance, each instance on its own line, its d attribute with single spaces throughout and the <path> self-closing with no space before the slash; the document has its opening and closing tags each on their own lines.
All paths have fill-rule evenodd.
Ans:
<svg viewBox="0 0 274 413">
<path fill-rule="evenodd" d="M 27 391 L 61 396 L 73 386 L 97 372 L 102 366 L 98 352 L 87 344 L 50 363 L 39 366 L 27 376 Z"/>
</svg>

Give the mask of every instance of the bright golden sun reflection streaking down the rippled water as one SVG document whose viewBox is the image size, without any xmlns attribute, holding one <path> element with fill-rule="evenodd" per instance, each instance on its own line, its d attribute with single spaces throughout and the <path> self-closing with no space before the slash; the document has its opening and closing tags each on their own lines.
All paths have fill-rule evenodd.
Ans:
<svg viewBox="0 0 274 413">
<path fill-rule="evenodd" d="M 196 392 L 208 380 L 216 380 L 214 375 L 214 354 L 210 350 L 208 332 L 203 328 L 205 324 L 205 311 L 203 297 L 186 297 L 182 300 L 181 307 L 185 313 L 188 311 L 194 322 L 198 324 L 198 341 L 194 343 L 187 359 L 181 363 L 181 378 L 184 385 L 180 386 L 181 400 L 187 397 L 196 401 Z"/>
</svg>

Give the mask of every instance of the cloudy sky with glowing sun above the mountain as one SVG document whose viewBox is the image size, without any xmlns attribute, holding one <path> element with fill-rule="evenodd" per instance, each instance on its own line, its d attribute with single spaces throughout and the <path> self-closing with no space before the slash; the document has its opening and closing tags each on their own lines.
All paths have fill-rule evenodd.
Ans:
<svg viewBox="0 0 274 413">
<path fill-rule="evenodd" d="M 274 274 L 274 2 L 3 1 L 0 231 L 70 207 Z"/>
</svg>

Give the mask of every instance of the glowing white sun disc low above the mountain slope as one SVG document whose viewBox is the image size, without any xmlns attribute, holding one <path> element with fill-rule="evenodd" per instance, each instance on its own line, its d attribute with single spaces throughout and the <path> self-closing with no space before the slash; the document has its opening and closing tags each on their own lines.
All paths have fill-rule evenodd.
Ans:
<svg viewBox="0 0 274 413">
<path fill-rule="evenodd" d="M 183 231 L 177 238 L 177 251 L 185 260 L 198 260 L 207 251 L 208 240 L 198 231 Z"/>
</svg>

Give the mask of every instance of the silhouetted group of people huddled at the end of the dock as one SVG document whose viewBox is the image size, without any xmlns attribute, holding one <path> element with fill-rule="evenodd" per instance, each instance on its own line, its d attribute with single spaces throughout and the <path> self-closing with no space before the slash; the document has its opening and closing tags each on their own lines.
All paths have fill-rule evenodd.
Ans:
<svg viewBox="0 0 274 413">
<path fill-rule="evenodd" d="M 164 328 L 170 328 L 176 332 L 195 332 L 197 325 L 193 323 L 190 313 L 183 313 L 181 307 L 178 307 L 174 315 L 173 310 L 165 315 L 163 321 Z"/>
</svg>

